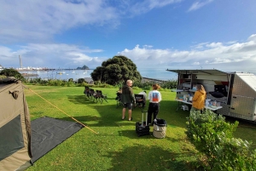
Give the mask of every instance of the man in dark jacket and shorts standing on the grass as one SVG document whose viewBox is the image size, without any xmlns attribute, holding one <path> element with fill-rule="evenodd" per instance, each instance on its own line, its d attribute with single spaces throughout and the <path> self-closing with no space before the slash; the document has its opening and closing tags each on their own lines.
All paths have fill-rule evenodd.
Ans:
<svg viewBox="0 0 256 171">
<path fill-rule="evenodd" d="M 131 86 L 132 86 L 132 81 L 127 80 L 126 85 L 124 85 L 122 88 L 121 102 L 124 104 L 122 120 L 125 119 L 126 108 L 128 108 L 128 117 L 129 117 L 128 120 L 129 121 L 132 120 L 131 110 L 132 110 L 132 103 L 135 103 L 135 98 L 134 98 L 134 94 Z"/>
</svg>

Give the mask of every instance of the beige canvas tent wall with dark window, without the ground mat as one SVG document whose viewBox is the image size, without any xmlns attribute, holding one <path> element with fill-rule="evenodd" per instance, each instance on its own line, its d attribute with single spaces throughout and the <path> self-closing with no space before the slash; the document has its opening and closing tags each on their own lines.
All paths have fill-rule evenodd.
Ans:
<svg viewBox="0 0 256 171">
<path fill-rule="evenodd" d="M 0 109 L 0 170 L 19 170 L 31 159 L 30 118 L 20 81 L 0 81 Z"/>
</svg>

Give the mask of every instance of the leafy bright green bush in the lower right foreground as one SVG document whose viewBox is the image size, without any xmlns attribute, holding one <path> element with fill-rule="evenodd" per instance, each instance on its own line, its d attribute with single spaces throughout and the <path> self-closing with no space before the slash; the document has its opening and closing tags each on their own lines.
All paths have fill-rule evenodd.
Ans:
<svg viewBox="0 0 256 171">
<path fill-rule="evenodd" d="M 226 123 L 224 117 L 210 110 L 190 114 L 186 134 L 200 151 L 198 166 L 204 170 L 255 170 L 256 151 L 250 151 L 252 143 L 233 138 L 237 126 L 237 121 Z"/>
</svg>

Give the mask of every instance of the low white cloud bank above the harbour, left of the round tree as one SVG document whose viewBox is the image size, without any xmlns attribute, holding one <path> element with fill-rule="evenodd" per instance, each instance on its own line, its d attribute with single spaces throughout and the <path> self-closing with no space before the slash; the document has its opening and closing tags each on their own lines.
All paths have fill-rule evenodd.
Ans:
<svg viewBox="0 0 256 171">
<path fill-rule="evenodd" d="M 90 49 L 68 44 L 36 44 L 31 43 L 19 47 L 14 51 L 10 48 L 0 47 L 1 65 L 5 67 L 19 66 L 19 55 L 23 66 L 40 66 L 49 68 L 76 68 L 78 66 L 101 66 L 105 57 L 90 56 L 89 54 L 102 52 L 102 49 Z M 12 62 L 11 62 L 12 61 Z"/>
</svg>

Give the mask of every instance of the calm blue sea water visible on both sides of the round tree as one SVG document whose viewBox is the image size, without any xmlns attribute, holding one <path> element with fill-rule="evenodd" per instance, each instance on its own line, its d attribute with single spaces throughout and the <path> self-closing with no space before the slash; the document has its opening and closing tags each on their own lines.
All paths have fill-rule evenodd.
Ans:
<svg viewBox="0 0 256 171">
<path fill-rule="evenodd" d="M 20 71 L 20 73 L 26 73 L 26 78 L 41 78 L 44 80 L 48 79 L 61 79 L 68 80 L 73 78 L 73 80 L 77 80 L 79 78 L 90 77 L 90 73 L 93 70 L 61 70 L 61 71 Z M 166 70 L 146 70 L 143 69 L 139 71 L 142 77 L 154 78 L 159 80 L 172 80 L 177 79 L 177 73 L 166 71 Z M 37 76 L 32 76 L 37 75 Z"/>
</svg>

